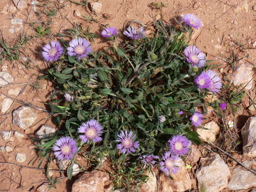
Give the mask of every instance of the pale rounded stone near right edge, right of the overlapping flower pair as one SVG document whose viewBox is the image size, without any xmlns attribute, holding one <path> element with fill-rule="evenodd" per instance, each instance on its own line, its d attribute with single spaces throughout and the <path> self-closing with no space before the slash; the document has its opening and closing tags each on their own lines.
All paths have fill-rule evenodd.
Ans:
<svg viewBox="0 0 256 192">
<path fill-rule="evenodd" d="M 234 75 L 234 85 L 239 86 L 242 85 L 245 90 L 250 90 L 252 89 L 252 83 L 253 83 L 253 70 L 252 66 L 243 63 L 240 64 L 235 71 Z"/>
</svg>

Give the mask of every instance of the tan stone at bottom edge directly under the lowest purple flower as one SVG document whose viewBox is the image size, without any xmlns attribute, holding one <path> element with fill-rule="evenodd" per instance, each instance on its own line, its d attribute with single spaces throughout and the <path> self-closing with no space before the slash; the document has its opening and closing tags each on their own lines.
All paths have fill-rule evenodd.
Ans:
<svg viewBox="0 0 256 192">
<path fill-rule="evenodd" d="M 189 177 L 188 171 L 185 167 L 185 164 L 180 159 L 181 166 L 178 173 L 173 174 L 170 172 L 170 176 L 166 177 L 166 175 L 161 172 L 158 179 L 158 190 L 159 192 L 183 192 L 191 189 L 191 179 Z"/>
</svg>

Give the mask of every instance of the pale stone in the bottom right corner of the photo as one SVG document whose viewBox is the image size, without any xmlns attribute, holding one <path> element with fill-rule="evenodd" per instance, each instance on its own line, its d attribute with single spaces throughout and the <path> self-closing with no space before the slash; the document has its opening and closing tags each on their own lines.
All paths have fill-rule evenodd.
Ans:
<svg viewBox="0 0 256 192">
<path fill-rule="evenodd" d="M 242 167 L 231 170 L 231 178 L 228 182 L 229 190 L 242 190 L 256 187 L 256 175 L 245 171 Z"/>
</svg>

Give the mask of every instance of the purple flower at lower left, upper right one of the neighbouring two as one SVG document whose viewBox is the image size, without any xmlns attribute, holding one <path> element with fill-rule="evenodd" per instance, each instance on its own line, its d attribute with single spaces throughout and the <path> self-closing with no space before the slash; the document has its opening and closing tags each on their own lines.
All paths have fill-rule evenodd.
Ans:
<svg viewBox="0 0 256 192">
<path fill-rule="evenodd" d="M 90 141 L 94 143 L 100 142 L 102 140 L 100 137 L 102 129 L 103 127 L 98 121 L 91 119 L 78 127 L 78 133 L 83 133 L 83 135 L 79 135 L 79 138 L 86 143 Z"/>
</svg>

